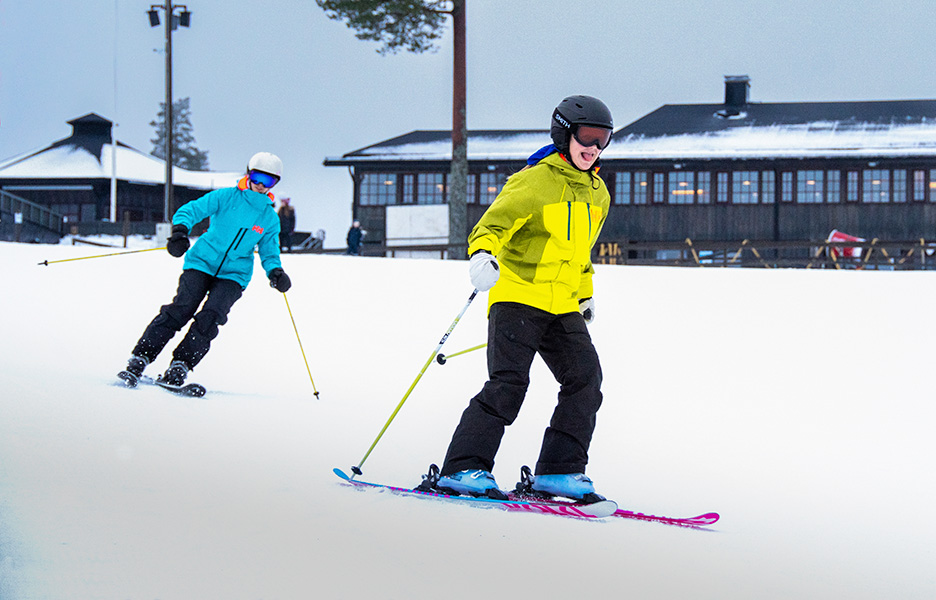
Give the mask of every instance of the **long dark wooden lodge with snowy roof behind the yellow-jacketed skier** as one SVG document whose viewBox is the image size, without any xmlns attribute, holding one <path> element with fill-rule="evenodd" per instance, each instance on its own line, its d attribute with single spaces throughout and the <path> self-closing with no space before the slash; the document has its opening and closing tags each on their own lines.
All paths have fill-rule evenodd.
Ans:
<svg viewBox="0 0 936 600">
<path fill-rule="evenodd" d="M 936 238 L 936 100 L 664 105 L 615 132 L 600 171 L 603 247 L 742 240 Z M 470 131 L 468 226 L 548 130 Z M 349 168 L 353 214 L 380 246 L 444 243 L 448 131 L 414 131 L 325 160 Z M 433 207 L 435 210 L 433 211 Z M 603 251 L 603 250 L 602 250 Z"/>
</svg>

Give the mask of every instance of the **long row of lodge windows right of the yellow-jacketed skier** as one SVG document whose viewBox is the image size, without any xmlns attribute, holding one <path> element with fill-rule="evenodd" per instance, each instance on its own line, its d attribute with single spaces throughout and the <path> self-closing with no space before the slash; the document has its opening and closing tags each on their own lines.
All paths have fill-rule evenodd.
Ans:
<svg viewBox="0 0 936 600">
<path fill-rule="evenodd" d="M 619 171 L 615 204 L 936 202 L 936 169 L 861 171 Z"/>
</svg>

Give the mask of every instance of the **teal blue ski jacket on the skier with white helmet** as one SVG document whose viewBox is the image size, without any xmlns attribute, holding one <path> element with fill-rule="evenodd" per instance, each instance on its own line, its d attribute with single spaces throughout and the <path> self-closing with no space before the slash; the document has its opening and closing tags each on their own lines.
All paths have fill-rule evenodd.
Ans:
<svg viewBox="0 0 936 600">
<path fill-rule="evenodd" d="M 221 279 L 236 281 L 247 288 L 254 268 L 254 248 L 266 272 L 282 267 L 279 257 L 279 216 L 273 209 L 273 195 L 260 194 L 246 186 L 208 192 L 184 204 L 172 217 L 173 225 L 191 231 L 206 217 L 211 224 L 185 255 L 184 269 L 196 269 Z"/>
</svg>

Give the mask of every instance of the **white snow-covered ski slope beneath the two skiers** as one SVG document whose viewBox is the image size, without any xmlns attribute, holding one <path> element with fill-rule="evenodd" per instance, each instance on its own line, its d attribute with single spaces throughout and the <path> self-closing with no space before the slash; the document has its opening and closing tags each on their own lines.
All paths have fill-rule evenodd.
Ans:
<svg viewBox="0 0 936 600">
<path fill-rule="evenodd" d="M 339 482 L 467 300 L 464 262 L 284 256 L 319 400 L 258 266 L 187 399 L 112 385 L 180 260 L 37 265 L 102 250 L 0 243 L 3 600 L 936 597 L 932 273 L 598 266 L 588 472 L 629 509 L 721 513 L 706 532 Z M 443 352 L 485 341 L 483 300 Z M 365 479 L 416 485 L 484 380 L 482 352 L 432 363 Z M 555 391 L 537 361 L 502 487 Z"/>
</svg>

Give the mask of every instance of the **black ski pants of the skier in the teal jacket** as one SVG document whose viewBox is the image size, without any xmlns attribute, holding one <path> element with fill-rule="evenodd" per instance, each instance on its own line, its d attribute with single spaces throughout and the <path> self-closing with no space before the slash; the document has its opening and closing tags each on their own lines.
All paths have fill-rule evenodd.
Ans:
<svg viewBox="0 0 936 600">
<path fill-rule="evenodd" d="M 218 336 L 218 327 L 227 323 L 231 307 L 243 293 L 243 288 L 236 281 L 212 277 L 195 269 L 182 271 L 175 298 L 164 305 L 146 327 L 133 354 L 153 362 L 169 340 L 192 321 L 185 337 L 173 351 L 172 359 L 194 369 L 208 353 L 211 340 Z"/>
</svg>

